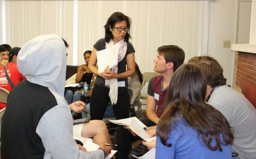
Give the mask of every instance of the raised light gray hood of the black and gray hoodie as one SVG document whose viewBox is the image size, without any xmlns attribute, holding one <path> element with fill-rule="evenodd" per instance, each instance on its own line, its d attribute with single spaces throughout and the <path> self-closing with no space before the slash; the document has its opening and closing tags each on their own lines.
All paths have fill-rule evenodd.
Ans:
<svg viewBox="0 0 256 159">
<path fill-rule="evenodd" d="M 59 36 L 42 35 L 27 42 L 19 51 L 17 66 L 29 82 L 64 96 L 66 47 Z"/>
</svg>

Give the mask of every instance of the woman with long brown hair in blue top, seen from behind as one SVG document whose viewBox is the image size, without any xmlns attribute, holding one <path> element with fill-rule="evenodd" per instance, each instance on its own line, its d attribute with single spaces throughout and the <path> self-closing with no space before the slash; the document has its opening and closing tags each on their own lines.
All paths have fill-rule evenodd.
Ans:
<svg viewBox="0 0 256 159">
<path fill-rule="evenodd" d="M 176 70 L 158 122 L 156 158 L 232 158 L 231 127 L 205 96 L 206 78 L 197 66 Z"/>
</svg>

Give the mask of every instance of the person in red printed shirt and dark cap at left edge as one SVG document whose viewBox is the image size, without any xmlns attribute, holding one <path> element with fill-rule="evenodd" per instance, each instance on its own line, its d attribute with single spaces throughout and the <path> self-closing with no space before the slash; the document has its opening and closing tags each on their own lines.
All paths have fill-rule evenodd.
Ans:
<svg viewBox="0 0 256 159">
<path fill-rule="evenodd" d="M 17 68 L 17 55 L 20 47 L 13 47 L 9 52 L 9 63 L 6 65 L 7 73 L 11 82 L 16 86 L 20 81 L 23 81 L 25 77 L 18 71 Z M 0 87 L 8 90 L 12 90 L 12 87 L 5 76 L 4 66 L 0 66 Z M 6 107 L 6 103 L 0 102 L 0 110 Z"/>
</svg>

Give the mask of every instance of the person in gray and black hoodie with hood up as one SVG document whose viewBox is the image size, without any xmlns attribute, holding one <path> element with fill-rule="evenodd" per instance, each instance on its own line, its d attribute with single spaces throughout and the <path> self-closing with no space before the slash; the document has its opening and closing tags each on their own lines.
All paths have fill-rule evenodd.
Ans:
<svg viewBox="0 0 256 159">
<path fill-rule="evenodd" d="M 19 51 L 17 66 L 26 80 L 8 97 L 1 129 L 2 158 L 104 158 L 110 153 L 104 146 L 110 143 L 106 136 L 99 149 L 90 152 L 73 139 L 73 119 L 64 98 L 66 47 L 60 37 L 42 35 L 27 42 Z M 105 126 L 101 123 L 84 124 L 81 136 L 93 137 L 96 129 Z"/>
</svg>

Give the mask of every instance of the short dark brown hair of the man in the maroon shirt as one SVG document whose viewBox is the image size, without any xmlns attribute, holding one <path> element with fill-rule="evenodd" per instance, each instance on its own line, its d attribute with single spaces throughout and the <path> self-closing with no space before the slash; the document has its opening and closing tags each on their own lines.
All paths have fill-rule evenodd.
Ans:
<svg viewBox="0 0 256 159">
<path fill-rule="evenodd" d="M 164 45 L 157 49 L 159 55 L 163 55 L 166 63 L 174 63 L 174 71 L 183 64 L 185 52 L 182 48 L 176 45 Z"/>
</svg>

